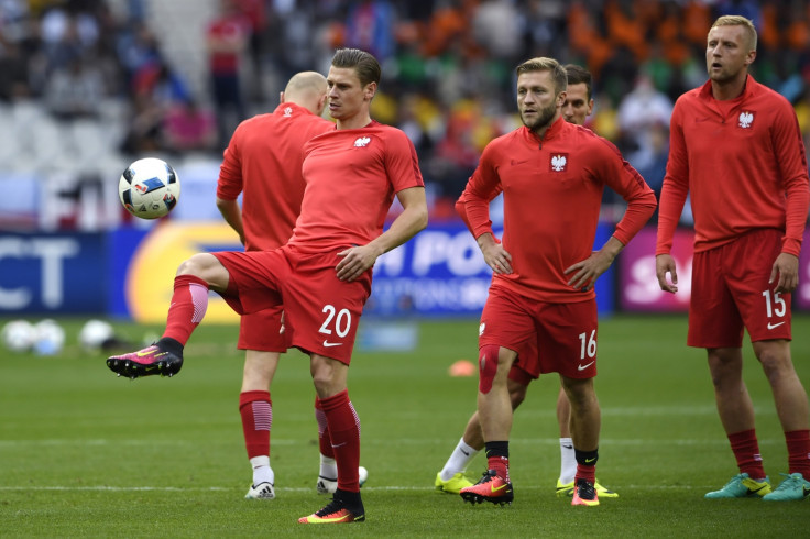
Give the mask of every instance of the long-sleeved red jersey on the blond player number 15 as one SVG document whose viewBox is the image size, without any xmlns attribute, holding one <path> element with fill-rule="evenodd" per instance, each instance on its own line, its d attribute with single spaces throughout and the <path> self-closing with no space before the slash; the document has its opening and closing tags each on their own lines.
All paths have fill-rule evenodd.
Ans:
<svg viewBox="0 0 810 539">
<path fill-rule="evenodd" d="M 740 97 L 719 101 L 708 81 L 678 99 L 669 131 L 656 254 L 669 253 L 691 193 L 696 252 L 773 228 L 785 232 L 781 251 L 799 256 L 810 191 L 787 99 L 748 75 Z"/>
</svg>

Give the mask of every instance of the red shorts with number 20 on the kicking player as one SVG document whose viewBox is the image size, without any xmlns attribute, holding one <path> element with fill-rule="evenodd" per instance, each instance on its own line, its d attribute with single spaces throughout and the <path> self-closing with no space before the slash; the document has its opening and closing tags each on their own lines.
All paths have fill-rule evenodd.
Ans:
<svg viewBox="0 0 810 539">
<path fill-rule="evenodd" d="M 336 253 L 302 253 L 285 245 L 272 251 L 211 253 L 228 270 L 222 298 L 240 315 L 284 306 L 289 344 L 351 362 L 360 316 L 371 294 L 371 271 L 338 279 Z"/>
</svg>

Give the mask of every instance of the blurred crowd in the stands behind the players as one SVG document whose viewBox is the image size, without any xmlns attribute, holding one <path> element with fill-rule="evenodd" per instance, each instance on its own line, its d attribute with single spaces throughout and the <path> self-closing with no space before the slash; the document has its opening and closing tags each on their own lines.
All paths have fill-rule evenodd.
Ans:
<svg viewBox="0 0 810 539">
<path fill-rule="evenodd" d="M 326 73 L 336 47 L 360 47 L 383 64 L 373 116 L 412 138 L 441 215 L 483 146 L 519 124 L 514 66 L 554 56 L 593 73 L 589 125 L 658 190 L 672 105 L 705 81 L 708 30 L 734 13 L 759 32 L 753 75 L 795 105 L 810 142 L 807 0 L 186 1 L 211 10 L 199 29 L 201 91 L 164 54 L 147 0 L 119 0 L 118 11 L 112 0 L 0 0 L 0 106 L 33 101 L 64 123 L 99 119 L 113 101 L 127 161 L 218 160 L 236 124 L 271 111 L 293 73 Z"/>
</svg>

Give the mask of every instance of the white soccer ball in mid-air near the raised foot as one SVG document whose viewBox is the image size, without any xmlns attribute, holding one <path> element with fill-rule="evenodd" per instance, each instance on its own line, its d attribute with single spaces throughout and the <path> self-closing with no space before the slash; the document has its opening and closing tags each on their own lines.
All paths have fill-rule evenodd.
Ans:
<svg viewBox="0 0 810 539">
<path fill-rule="evenodd" d="M 132 163 L 121 174 L 118 196 L 127 211 L 141 219 L 157 219 L 180 198 L 180 180 L 163 160 L 146 157 Z"/>
</svg>

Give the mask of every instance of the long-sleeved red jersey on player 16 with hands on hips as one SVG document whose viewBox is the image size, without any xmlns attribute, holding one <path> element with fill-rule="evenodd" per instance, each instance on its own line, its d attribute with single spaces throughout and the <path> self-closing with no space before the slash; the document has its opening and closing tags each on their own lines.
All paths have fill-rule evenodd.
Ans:
<svg viewBox="0 0 810 539">
<path fill-rule="evenodd" d="M 623 244 L 655 211 L 655 194 L 619 150 L 593 131 L 559 118 L 543 139 L 526 127 L 490 142 L 456 204 L 472 234 L 492 233 L 490 201 L 503 190 L 503 246 L 513 273 L 492 286 L 548 302 L 583 301 L 562 272 L 588 258 L 608 185 L 627 201 L 613 235 Z"/>
</svg>

